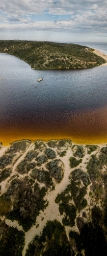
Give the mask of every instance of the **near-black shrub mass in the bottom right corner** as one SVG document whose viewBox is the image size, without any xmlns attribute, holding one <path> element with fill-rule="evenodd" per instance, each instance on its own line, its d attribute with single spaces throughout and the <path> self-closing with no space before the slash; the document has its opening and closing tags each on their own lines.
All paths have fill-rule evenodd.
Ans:
<svg viewBox="0 0 107 256">
<path fill-rule="evenodd" d="M 79 234 L 70 231 L 71 255 L 105 256 L 107 251 L 106 232 L 102 228 L 102 211 L 96 205 L 92 208 L 92 222 L 85 223 L 83 218 L 77 218 Z"/>
</svg>

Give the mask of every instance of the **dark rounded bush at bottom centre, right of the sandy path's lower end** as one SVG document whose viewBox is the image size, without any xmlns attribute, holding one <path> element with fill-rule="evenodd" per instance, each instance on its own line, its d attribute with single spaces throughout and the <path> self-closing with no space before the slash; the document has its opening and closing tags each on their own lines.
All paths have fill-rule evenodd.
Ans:
<svg viewBox="0 0 107 256">
<path fill-rule="evenodd" d="M 29 245 L 25 256 L 71 256 L 64 226 L 57 220 L 47 221 L 42 235 Z"/>
</svg>

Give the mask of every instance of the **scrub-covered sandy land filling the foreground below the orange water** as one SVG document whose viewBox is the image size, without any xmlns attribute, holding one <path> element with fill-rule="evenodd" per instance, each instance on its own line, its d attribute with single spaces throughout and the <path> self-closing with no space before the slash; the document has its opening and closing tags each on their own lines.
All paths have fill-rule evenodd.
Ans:
<svg viewBox="0 0 107 256">
<path fill-rule="evenodd" d="M 105 256 L 107 145 L 0 143 L 0 254 Z"/>
</svg>

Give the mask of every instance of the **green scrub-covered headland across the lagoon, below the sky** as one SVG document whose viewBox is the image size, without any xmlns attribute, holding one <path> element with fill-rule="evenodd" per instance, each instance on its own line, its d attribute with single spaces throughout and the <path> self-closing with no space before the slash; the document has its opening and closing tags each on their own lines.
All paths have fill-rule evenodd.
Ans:
<svg viewBox="0 0 107 256">
<path fill-rule="evenodd" d="M 57 42 L 0 40 L 0 52 L 23 59 L 33 69 L 91 68 L 106 62 L 89 47 Z"/>
</svg>

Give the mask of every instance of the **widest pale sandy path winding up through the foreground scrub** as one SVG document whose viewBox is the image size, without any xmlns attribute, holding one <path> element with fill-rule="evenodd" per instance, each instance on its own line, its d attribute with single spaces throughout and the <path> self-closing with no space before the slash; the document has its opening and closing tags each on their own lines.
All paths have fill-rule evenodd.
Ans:
<svg viewBox="0 0 107 256">
<path fill-rule="evenodd" d="M 57 156 L 57 158 L 61 159 L 65 165 L 64 178 L 60 184 L 56 184 L 55 190 L 48 192 L 47 195 L 44 197 L 44 200 L 48 201 L 48 206 L 46 207 L 46 209 L 44 209 L 44 211 L 40 211 L 40 214 L 36 220 L 36 225 L 33 225 L 31 227 L 31 229 L 25 233 L 25 246 L 24 246 L 24 249 L 22 252 L 22 256 L 25 256 L 26 249 L 28 248 L 28 245 L 33 241 L 33 239 L 36 236 L 40 236 L 40 234 L 42 233 L 42 230 L 48 220 L 53 221 L 53 220 L 57 219 L 60 223 L 62 223 L 63 216 L 60 215 L 59 205 L 55 203 L 55 199 L 56 199 L 57 195 L 62 193 L 62 191 L 69 184 L 69 182 L 70 182 L 69 175 L 70 175 L 71 171 L 73 171 L 75 169 L 75 167 L 72 169 L 69 167 L 69 158 L 71 156 L 72 156 L 71 148 L 69 148 L 65 157 L 60 158 L 59 156 Z M 89 155 L 86 155 L 83 158 L 83 162 L 80 163 L 77 166 L 77 168 L 79 168 L 81 165 L 83 165 L 86 162 L 87 157 L 89 157 Z M 66 230 L 66 233 L 68 235 L 68 230 Z"/>
</svg>

